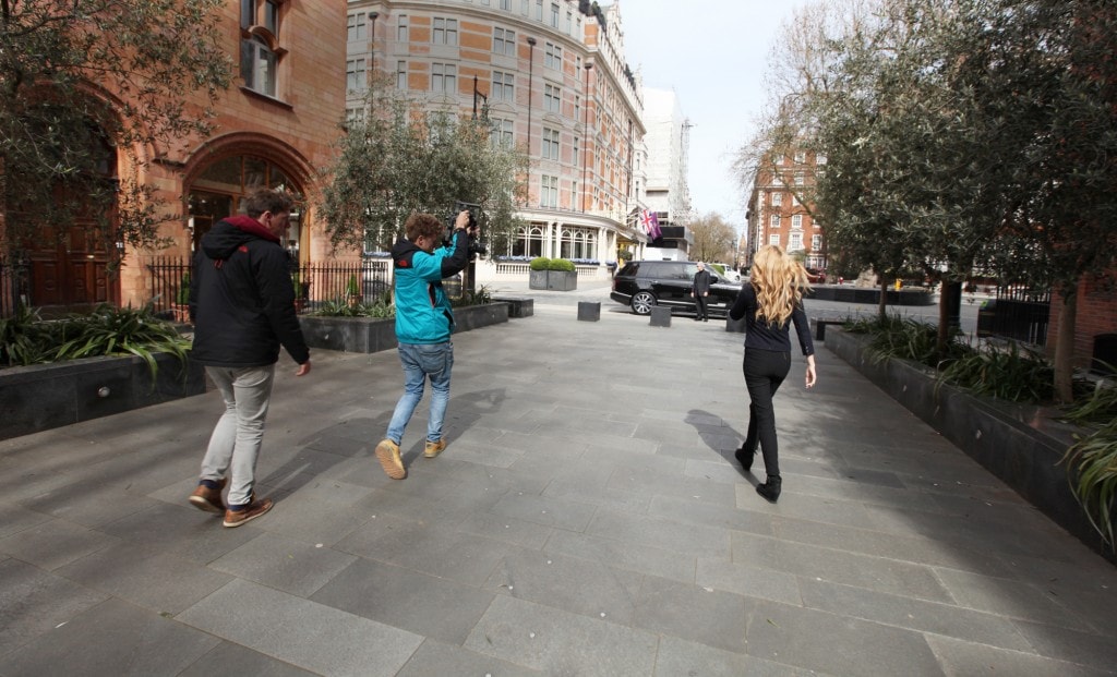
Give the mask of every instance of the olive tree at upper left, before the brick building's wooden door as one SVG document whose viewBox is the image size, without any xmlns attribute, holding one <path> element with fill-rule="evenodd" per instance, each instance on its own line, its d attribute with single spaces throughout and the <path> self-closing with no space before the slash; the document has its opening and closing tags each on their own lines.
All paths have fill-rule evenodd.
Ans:
<svg viewBox="0 0 1117 677">
<path fill-rule="evenodd" d="M 61 241 L 75 222 L 109 249 L 161 242 L 176 214 L 143 169 L 175 140 L 210 132 L 208 106 L 232 73 L 219 45 L 225 4 L 0 0 L 4 255 L 51 232 Z"/>
</svg>

